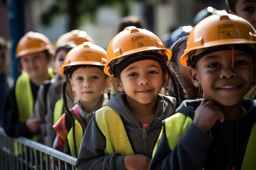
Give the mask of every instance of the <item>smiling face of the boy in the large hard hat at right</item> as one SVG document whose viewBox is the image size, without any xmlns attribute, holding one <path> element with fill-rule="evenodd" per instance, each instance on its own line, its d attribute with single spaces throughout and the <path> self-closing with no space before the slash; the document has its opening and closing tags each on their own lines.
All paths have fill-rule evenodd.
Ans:
<svg viewBox="0 0 256 170">
<path fill-rule="evenodd" d="M 202 86 L 205 98 L 224 106 L 236 105 L 252 85 L 252 57 L 235 50 L 233 68 L 231 62 L 231 50 L 222 50 L 205 55 L 198 60 L 196 68 L 189 68 L 194 85 Z"/>
</svg>

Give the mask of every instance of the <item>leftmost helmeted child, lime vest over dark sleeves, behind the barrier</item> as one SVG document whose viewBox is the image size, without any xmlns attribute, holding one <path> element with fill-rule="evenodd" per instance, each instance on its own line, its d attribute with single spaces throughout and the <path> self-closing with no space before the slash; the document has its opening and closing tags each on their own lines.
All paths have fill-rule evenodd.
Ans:
<svg viewBox="0 0 256 170">
<path fill-rule="evenodd" d="M 18 77 L 4 105 L 4 130 L 9 136 L 32 138 L 38 133 L 40 122 L 34 117 L 34 99 L 39 85 L 54 77 L 48 70 L 52 56 L 53 46 L 41 33 L 30 31 L 18 42 L 16 57 L 25 73 Z"/>
</svg>

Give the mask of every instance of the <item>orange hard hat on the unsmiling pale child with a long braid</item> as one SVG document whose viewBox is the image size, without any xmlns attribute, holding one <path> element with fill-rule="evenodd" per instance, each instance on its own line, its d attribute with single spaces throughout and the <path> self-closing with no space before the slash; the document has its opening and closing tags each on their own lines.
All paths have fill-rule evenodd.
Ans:
<svg viewBox="0 0 256 170">
<path fill-rule="evenodd" d="M 91 42 L 83 42 L 70 50 L 61 66 L 61 74 L 66 74 L 66 68 L 74 65 L 98 65 L 105 66 L 107 52 L 100 46 Z"/>
</svg>

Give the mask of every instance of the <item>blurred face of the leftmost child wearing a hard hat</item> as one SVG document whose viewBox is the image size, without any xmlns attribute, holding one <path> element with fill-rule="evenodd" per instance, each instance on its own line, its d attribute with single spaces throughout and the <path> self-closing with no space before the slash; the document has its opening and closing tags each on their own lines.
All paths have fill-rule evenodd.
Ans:
<svg viewBox="0 0 256 170">
<path fill-rule="evenodd" d="M 36 52 L 20 57 L 20 63 L 32 78 L 40 78 L 47 72 L 49 59 L 45 52 Z"/>
</svg>

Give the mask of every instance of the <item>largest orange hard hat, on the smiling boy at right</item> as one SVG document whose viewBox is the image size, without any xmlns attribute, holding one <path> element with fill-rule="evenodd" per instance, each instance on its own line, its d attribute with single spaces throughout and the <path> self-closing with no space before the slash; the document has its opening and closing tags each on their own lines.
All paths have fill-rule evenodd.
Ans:
<svg viewBox="0 0 256 170">
<path fill-rule="evenodd" d="M 231 44 L 237 44 L 237 46 L 238 44 L 247 44 L 249 48 L 255 50 L 256 31 L 247 20 L 237 15 L 228 14 L 225 10 L 216 11 L 193 28 L 187 41 L 186 50 L 180 57 L 180 63 L 185 67 L 193 67 L 196 62 L 193 61 L 195 60 L 193 56 L 205 54 L 203 51 L 206 49 L 216 48 L 216 51 Z"/>
</svg>

